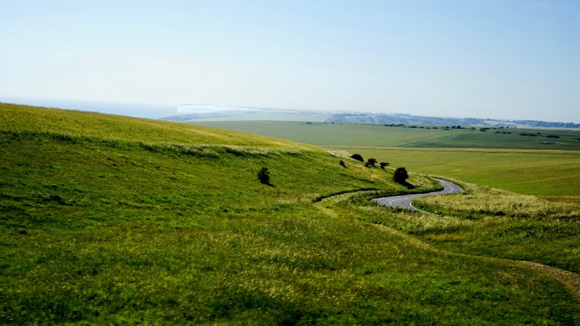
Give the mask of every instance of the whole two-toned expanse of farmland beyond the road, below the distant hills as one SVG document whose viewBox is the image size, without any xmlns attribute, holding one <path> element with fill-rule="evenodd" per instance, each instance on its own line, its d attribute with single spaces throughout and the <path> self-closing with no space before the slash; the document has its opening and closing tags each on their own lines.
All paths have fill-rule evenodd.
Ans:
<svg viewBox="0 0 580 326">
<path fill-rule="evenodd" d="M 389 162 L 395 168 L 405 166 L 416 173 L 460 177 L 522 194 L 580 201 L 578 130 L 443 131 L 373 124 L 296 122 L 214 122 L 211 125 L 360 153 L 364 158 Z M 494 134 L 500 130 L 512 134 Z M 559 135 L 560 138 L 550 138 L 550 141 L 565 139 L 561 148 L 567 150 L 546 146 L 543 141 L 548 138 L 545 137 L 519 135 L 538 132 Z"/>
</svg>

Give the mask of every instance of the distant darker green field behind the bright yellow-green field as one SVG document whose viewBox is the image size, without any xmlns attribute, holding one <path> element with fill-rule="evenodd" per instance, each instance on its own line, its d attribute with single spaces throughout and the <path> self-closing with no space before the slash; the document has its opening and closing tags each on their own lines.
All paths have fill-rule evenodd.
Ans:
<svg viewBox="0 0 580 326">
<path fill-rule="evenodd" d="M 383 124 L 237 121 L 197 124 L 300 141 L 317 146 L 538 149 L 580 151 L 580 130 L 444 129 L 441 126 L 386 127 Z M 436 127 L 437 129 L 433 129 Z M 451 126 L 446 126 L 451 127 Z M 538 134 L 539 133 L 539 134 Z M 522 136 L 521 134 L 526 134 Z M 528 136 L 533 135 L 533 136 Z M 558 136 L 549 138 L 547 136 Z"/>
</svg>

